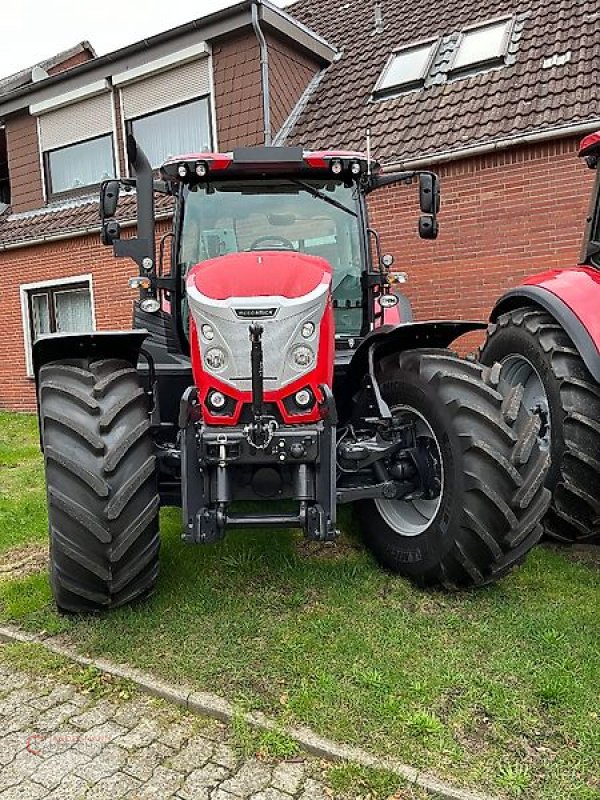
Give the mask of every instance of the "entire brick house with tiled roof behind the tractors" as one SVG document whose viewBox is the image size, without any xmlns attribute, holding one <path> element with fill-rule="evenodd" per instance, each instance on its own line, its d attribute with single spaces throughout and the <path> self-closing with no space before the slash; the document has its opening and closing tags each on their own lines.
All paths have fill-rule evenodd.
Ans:
<svg viewBox="0 0 600 800">
<path fill-rule="evenodd" d="M 99 246 L 89 185 L 69 185 L 77 144 L 103 140 L 104 171 L 98 174 L 100 150 L 81 159 L 90 184 L 111 168 L 126 174 L 129 128 L 145 148 L 158 137 L 166 154 L 174 146 L 165 139 L 173 106 L 175 115 L 193 103 L 204 110 L 195 129 L 204 138 L 190 142 L 196 149 L 263 141 L 251 6 L 108 56 L 90 52 L 85 63 L 35 84 L 8 92 L 0 84 L 11 191 L 0 215 L 0 291 L 9 298 L 0 406 L 33 406 L 28 354 L 36 332 L 130 323 L 131 265 Z M 440 174 L 434 243 L 417 240 L 414 189 L 388 187 L 371 205 L 384 249 L 409 273 L 417 318 L 485 318 L 524 275 L 575 263 L 590 181 L 577 144 L 600 128 L 600 42 L 590 8 L 578 0 L 434 0 L 418 14 L 405 0 L 258 8 L 276 143 L 365 149 L 369 133 L 384 169 L 427 166 Z M 170 129 L 185 132 L 185 114 L 173 119 Z M 0 133 L 0 176 L 1 141 Z"/>
</svg>

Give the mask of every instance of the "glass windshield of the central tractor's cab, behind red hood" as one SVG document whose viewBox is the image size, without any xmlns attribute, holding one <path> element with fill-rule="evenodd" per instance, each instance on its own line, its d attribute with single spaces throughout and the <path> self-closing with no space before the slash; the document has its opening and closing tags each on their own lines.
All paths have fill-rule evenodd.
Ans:
<svg viewBox="0 0 600 800">
<path fill-rule="evenodd" d="M 314 180 L 236 181 L 186 190 L 179 262 L 183 274 L 228 253 L 296 250 L 333 268 L 336 334 L 362 327 L 363 270 L 356 189 Z"/>
</svg>

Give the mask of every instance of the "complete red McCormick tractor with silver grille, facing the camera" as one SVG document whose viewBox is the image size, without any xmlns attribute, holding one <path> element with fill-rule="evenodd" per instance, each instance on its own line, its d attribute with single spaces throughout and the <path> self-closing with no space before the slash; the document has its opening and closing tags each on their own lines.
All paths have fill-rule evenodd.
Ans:
<svg viewBox="0 0 600 800">
<path fill-rule="evenodd" d="M 139 267 L 134 329 L 34 346 L 59 608 L 153 588 L 160 505 L 209 544 L 257 526 L 330 541 L 352 503 L 377 560 L 421 585 L 520 563 L 549 502 L 539 421 L 499 367 L 446 349 L 480 324 L 402 322 L 367 219 L 371 191 L 418 179 L 434 238 L 436 176 L 265 147 L 171 159 L 157 181 L 128 150 L 137 237 L 120 238 L 118 182 L 101 213 L 104 243 Z M 175 204 L 158 264 L 156 191 Z"/>
</svg>

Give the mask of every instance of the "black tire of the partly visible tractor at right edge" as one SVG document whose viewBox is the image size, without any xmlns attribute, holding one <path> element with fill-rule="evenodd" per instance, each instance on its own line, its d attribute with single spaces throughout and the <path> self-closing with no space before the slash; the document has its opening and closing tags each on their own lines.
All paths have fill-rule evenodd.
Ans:
<svg viewBox="0 0 600 800">
<path fill-rule="evenodd" d="M 552 503 L 546 535 L 565 544 L 600 540 L 600 386 L 564 328 L 535 306 L 502 314 L 488 328 L 484 364 L 520 356 L 535 368 L 549 410 Z"/>
</svg>

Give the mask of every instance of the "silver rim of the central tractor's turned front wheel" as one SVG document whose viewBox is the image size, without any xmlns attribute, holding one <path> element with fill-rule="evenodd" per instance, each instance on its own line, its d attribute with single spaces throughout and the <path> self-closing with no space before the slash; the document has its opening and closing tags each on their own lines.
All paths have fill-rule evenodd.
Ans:
<svg viewBox="0 0 600 800">
<path fill-rule="evenodd" d="M 429 450 L 435 463 L 435 477 L 439 481 L 439 493 L 426 500 L 422 497 L 402 500 L 375 500 L 375 506 L 384 522 L 401 536 L 419 536 L 431 525 L 438 513 L 444 496 L 444 466 L 438 438 L 426 418 L 411 406 L 395 406 L 391 409 L 394 417 L 403 421 L 413 421 L 417 439 Z"/>
</svg>

